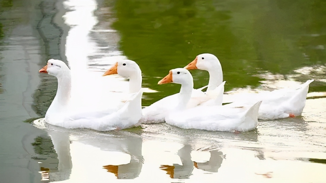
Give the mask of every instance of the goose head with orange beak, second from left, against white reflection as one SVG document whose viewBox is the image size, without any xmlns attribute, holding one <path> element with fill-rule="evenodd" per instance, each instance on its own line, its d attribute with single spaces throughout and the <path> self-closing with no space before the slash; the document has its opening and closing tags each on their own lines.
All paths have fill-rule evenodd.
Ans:
<svg viewBox="0 0 326 183">
<path fill-rule="evenodd" d="M 140 73 L 139 65 L 136 62 L 132 60 L 121 60 L 115 63 L 102 76 L 118 74 L 121 77 L 130 77 Z"/>
</svg>

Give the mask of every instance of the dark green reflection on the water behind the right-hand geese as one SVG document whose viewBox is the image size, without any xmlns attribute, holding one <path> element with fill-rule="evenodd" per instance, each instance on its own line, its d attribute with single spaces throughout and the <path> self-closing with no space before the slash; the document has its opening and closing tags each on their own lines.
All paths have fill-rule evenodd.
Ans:
<svg viewBox="0 0 326 183">
<path fill-rule="evenodd" d="M 204 52 L 219 58 L 226 90 L 258 86 L 258 71 L 290 74 L 326 63 L 323 0 L 124 0 L 114 7 L 121 50 L 139 63 L 145 86 L 164 91 L 149 94 L 154 101 L 180 87 L 157 86 L 156 77 Z M 195 88 L 208 83 L 206 72 L 192 74 Z"/>
</svg>

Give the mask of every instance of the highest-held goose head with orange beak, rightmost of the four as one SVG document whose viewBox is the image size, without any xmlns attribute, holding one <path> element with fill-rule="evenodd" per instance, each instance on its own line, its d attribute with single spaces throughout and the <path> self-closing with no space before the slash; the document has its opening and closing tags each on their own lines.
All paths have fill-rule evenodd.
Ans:
<svg viewBox="0 0 326 183">
<path fill-rule="evenodd" d="M 191 70 L 191 69 L 200 69 L 209 71 L 210 69 L 216 68 L 216 65 L 219 63 L 219 60 L 217 57 L 210 53 L 203 53 L 200 55 L 197 55 L 194 61 L 190 62 L 187 66 L 185 66 L 185 69 Z"/>
</svg>

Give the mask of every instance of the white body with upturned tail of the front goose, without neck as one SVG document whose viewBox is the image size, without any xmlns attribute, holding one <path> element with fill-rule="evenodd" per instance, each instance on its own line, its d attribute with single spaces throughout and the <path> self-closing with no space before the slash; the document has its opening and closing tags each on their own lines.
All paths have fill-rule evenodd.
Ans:
<svg viewBox="0 0 326 183">
<path fill-rule="evenodd" d="M 260 104 L 261 101 L 251 107 L 198 106 L 170 113 L 165 121 L 185 129 L 245 132 L 257 127 Z"/>
</svg>

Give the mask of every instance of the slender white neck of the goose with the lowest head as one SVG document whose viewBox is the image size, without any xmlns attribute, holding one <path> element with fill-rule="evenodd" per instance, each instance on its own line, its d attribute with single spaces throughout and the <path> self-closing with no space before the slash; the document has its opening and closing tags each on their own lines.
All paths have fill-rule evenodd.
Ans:
<svg viewBox="0 0 326 183">
<path fill-rule="evenodd" d="M 181 84 L 181 89 L 179 92 L 179 104 L 177 106 L 177 110 L 183 110 L 186 108 L 190 98 L 191 98 L 191 92 L 194 88 L 194 82 L 191 80 L 191 82 L 185 82 Z"/>
</svg>

